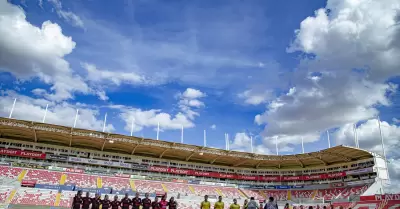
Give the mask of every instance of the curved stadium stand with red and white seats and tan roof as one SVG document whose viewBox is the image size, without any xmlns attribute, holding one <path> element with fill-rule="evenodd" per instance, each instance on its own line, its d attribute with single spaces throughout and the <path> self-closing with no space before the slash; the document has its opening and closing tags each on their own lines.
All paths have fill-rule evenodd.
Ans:
<svg viewBox="0 0 400 209">
<path fill-rule="evenodd" d="M 297 155 L 259 155 L 58 125 L 0 119 L 3 208 L 70 208 L 76 191 L 151 197 L 200 208 L 272 196 L 281 207 L 399 208 L 384 193 L 385 160 L 347 146 Z M 229 204 L 228 204 L 229 203 Z"/>
</svg>

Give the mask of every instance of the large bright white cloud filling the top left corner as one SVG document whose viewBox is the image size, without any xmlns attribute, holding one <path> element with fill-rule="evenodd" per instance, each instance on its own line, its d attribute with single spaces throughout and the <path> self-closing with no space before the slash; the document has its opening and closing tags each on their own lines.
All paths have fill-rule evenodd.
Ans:
<svg viewBox="0 0 400 209">
<path fill-rule="evenodd" d="M 75 48 L 59 25 L 45 21 L 36 27 L 24 11 L 0 0 L 0 69 L 27 81 L 39 78 L 52 85 L 45 96 L 51 100 L 73 98 L 73 92 L 89 93 L 86 83 L 70 69 L 64 56 Z"/>
</svg>

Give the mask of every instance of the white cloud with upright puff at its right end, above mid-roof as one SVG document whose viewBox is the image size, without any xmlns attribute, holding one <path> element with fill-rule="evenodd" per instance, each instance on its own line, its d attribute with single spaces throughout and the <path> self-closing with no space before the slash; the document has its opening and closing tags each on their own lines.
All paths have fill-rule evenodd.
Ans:
<svg viewBox="0 0 400 209">
<path fill-rule="evenodd" d="M 192 128 L 194 119 L 199 116 L 199 108 L 204 107 L 200 98 L 206 94 L 200 90 L 187 88 L 177 95 L 180 112 L 175 115 L 163 112 L 159 109 L 142 110 L 126 106 L 117 106 L 121 110 L 120 118 L 125 122 L 125 130 L 137 132 L 145 127 L 157 127 L 160 124 L 162 130 Z"/>
</svg>

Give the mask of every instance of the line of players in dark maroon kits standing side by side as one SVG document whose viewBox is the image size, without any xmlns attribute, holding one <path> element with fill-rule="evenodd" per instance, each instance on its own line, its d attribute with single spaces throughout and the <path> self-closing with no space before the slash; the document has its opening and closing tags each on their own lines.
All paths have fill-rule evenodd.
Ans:
<svg viewBox="0 0 400 209">
<path fill-rule="evenodd" d="M 86 192 L 86 196 L 82 197 L 82 191 L 78 191 L 72 200 L 72 209 L 177 209 L 178 203 L 175 201 L 174 197 L 171 197 L 167 201 L 167 196 L 161 197 L 158 201 L 158 197 L 155 197 L 154 201 L 151 201 L 149 194 L 145 194 L 144 199 L 140 199 L 139 193 L 136 193 L 135 197 L 130 199 L 128 194 L 121 200 L 118 200 L 118 196 L 115 195 L 114 200 L 108 199 L 108 195 L 104 196 L 104 199 L 100 198 L 99 194 L 95 194 L 94 198 L 89 197 L 89 192 Z"/>
</svg>

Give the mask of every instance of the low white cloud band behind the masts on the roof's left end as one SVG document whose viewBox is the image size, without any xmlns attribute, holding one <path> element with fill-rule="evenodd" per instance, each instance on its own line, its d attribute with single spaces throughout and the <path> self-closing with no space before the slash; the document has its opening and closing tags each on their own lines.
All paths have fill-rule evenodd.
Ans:
<svg viewBox="0 0 400 209">
<path fill-rule="evenodd" d="M 72 127 L 75 119 L 76 109 L 79 116 L 76 123 L 77 128 L 101 131 L 103 121 L 97 119 L 99 111 L 85 107 L 84 105 L 72 105 L 67 102 L 56 103 L 46 99 L 34 99 L 22 96 L 13 91 L 2 91 L 0 95 L 0 115 L 5 117 L 10 114 L 14 98 L 17 98 L 13 118 L 42 122 L 46 105 L 49 105 L 46 114 L 46 123 L 58 124 Z M 106 131 L 113 132 L 112 124 L 107 124 Z"/>
</svg>

